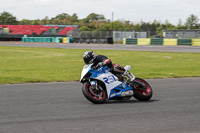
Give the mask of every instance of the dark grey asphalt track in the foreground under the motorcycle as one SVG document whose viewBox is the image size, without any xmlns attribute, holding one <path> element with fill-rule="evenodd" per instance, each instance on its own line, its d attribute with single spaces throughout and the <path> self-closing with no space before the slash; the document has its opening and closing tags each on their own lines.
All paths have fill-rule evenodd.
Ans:
<svg viewBox="0 0 200 133">
<path fill-rule="evenodd" d="M 101 105 L 78 82 L 0 85 L 0 133 L 200 132 L 200 78 L 147 81 L 150 101 Z"/>
</svg>

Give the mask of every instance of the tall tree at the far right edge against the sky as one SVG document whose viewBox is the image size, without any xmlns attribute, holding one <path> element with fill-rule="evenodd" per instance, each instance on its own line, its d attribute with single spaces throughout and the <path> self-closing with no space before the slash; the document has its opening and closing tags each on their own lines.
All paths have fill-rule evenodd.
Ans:
<svg viewBox="0 0 200 133">
<path fill-rule="evenodd" d="M 187 29 L 196 29 L 199 27 L 198 21 L 198 17 L 194 14 L 191 14 L 190 17 L 186 19 L 185 26 L 187 27 Z"/>
</svg>

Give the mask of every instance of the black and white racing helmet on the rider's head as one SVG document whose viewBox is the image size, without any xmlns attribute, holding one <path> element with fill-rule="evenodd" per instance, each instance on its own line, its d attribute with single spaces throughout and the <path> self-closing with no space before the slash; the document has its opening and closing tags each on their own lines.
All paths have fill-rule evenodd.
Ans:
<svg viewBox="0 0 200 133">
<path fill-rule="evenodd" d="M 85 64 L 92 64 L 94 62 L 95 57 L 96 56 L 93 51 L 86 51 L 83 54 L 83 60 L 84 60 Z"/>
</svg>

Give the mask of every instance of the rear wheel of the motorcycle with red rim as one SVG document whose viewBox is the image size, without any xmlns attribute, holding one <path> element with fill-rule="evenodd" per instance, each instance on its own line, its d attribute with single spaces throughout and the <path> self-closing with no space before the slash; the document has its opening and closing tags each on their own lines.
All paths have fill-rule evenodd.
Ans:
<svg viewBox="0 0 200 133">
<path fill-rule="evenodd" d="M 135 78 L 135 80 L 144 83 L 146 85 L 147 89 L 146 90 L 140 90 L 139 88 L 134 89 L 135 94 L 133 95 L 133 97 L 139 101 L 150 100 L 153 95 L 153 90 L 152 90 L 151 86 L 144 79 Z"/>
</svg>

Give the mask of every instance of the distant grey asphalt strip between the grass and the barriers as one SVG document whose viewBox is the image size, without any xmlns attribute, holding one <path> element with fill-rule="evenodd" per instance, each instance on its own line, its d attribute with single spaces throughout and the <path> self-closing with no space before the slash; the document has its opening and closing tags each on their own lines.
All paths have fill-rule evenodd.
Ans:
<svg viewBox="0 0 200 133">
<path fill-rule="evenodd" d="M 200 46 L 156 46 L 156 45 L 143 46 L 143 45 L 108 45 L 108 44 L 23 43 L 23 42 L 0 42 L 0 46 L 200 53 Z"/>
</svg>

